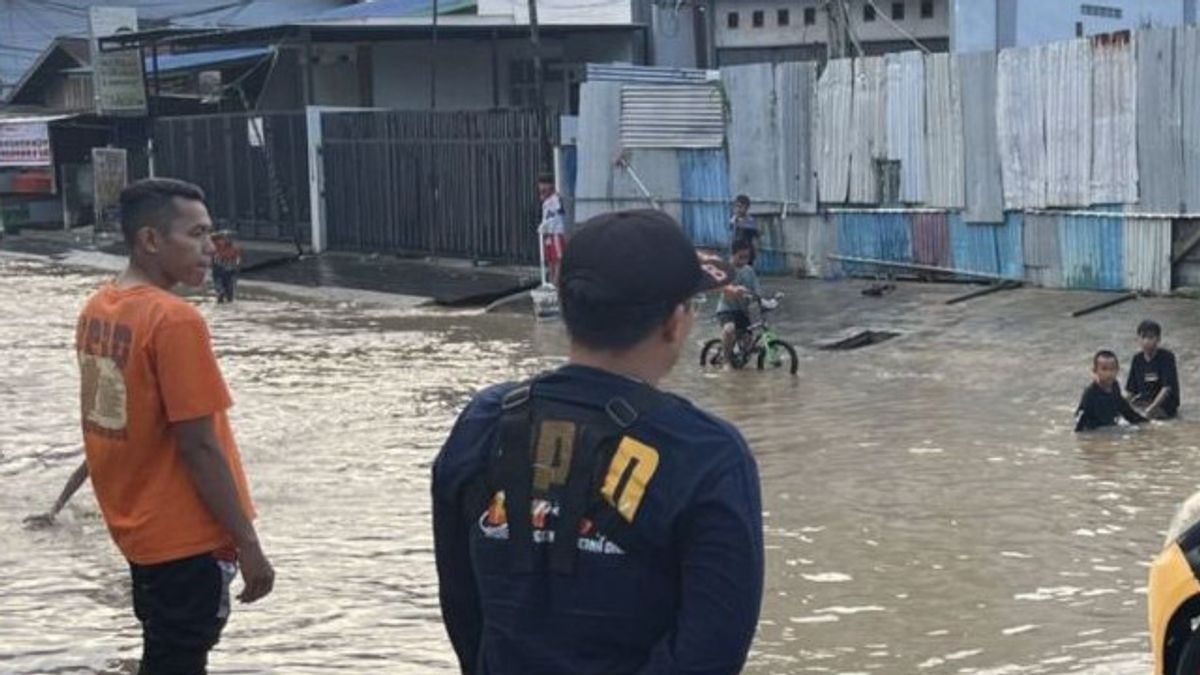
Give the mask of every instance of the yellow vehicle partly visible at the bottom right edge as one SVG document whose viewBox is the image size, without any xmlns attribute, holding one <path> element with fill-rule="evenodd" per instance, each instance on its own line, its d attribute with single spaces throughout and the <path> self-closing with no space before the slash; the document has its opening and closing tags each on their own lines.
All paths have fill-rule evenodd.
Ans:
<svg viewBox="0 0 1200 675">
<path fill-rule="evenodd" d="M 1200 674 L 1200 522 L 1154 558 L 1147 596 L 1154 675 Z"/>
</svg>

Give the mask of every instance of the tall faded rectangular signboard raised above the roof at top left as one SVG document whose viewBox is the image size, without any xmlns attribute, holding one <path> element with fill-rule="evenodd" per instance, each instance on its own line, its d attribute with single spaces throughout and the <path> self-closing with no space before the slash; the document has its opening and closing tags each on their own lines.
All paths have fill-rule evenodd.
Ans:
<svg viewBox="0 0 1200 675">
<path fill-rule="evenodd" d="M 146 114 L 146 90 L 138 49 L 101 52 L 100 38 L 137 32 L 138 12 L 132 7 L 91 7 L 91 68 L 96 88 L 96 113 L 101 115 Z"/>
</svg>

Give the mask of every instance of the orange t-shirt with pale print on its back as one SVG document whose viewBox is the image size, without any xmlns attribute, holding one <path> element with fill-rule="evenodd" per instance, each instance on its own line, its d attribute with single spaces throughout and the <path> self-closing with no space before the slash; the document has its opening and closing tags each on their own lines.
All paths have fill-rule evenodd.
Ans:
<svg viewBox="0 0 1200 675">
<path fill-rule="evenodd" d="M 76 328 L 84 447 L 92 490 L 125 557 L 156 565 L 228 549 L 200 501 L 172 424 L 212 416 L 241 508 L 254 516 L 204 317 L 152 286 L 103 286 Z"/>
</svg>

